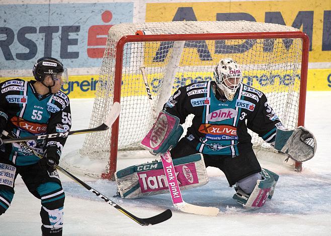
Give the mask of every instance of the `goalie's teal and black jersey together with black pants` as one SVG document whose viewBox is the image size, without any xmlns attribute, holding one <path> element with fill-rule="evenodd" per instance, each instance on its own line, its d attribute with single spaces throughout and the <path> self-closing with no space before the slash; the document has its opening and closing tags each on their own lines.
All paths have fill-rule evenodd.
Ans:
<svg viewBox="0 0 331 236">
<path fill-rule="evenodd" d="M 240 84 L 232 101 L 218 94 L 216 82 L 203 81 L 179 88 L 163 109 L 185 122 L 193 114 L 185 138 L 171 150 L 174 158 L 202 153 L 206 166 L 221 169 L 230 185 L 261 171 L 247 129 L 268 143 L 282 126 L 265 94 Z M 215 92 L 216 91 L 216 92 Z"/>
</svg>

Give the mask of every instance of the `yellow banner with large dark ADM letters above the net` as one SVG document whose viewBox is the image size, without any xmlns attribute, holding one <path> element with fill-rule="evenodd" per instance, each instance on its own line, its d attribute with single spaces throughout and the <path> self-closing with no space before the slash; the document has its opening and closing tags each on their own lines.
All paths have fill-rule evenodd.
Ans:
<svg viewBox="0 0 331 236">
<path fill-rule="evenodd" d="M 146 22 L 256 21 L 298 28 L 310 39 L 309 62 L 331 62 L 331 1 L 147 3 Z"/>
</svg>

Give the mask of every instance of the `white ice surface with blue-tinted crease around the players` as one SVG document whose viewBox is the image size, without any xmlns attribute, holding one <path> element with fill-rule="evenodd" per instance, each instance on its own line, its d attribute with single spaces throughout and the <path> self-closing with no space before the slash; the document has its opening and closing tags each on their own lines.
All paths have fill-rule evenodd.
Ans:
<svg viewBox="0 0 331 236">
<path fill-rule="evenodd" d="M 245 210 L 238 205 L 232 199 L 234 190 L 216 168 L 207 168 L 208 184 L 182 192 L 186 202 L 218 207 L 216 217 L 180 212 L 169 194 L 122 200 L 113 197 L 114 182 L 77 176 L 139 217 L 167 208 L 173 212 L 165 222 L 141 226 L 61 174 L 66 193 L 63 235 L 331 235 L 330 99 L 330 92 L 307 93 L 305 126 L 314 133 L 318 145 L 315 157 L 303 163 L 301 173 L 261 161 L 263 167 L 280 175 L 273 199 L 263 208 Z M 88 127 L 92 105 L 92 99 L 71 100 L 72 130 Z M 84 135 L 69 137 L 64 155 L 79 149 L 83 141 Z M 134 159 L 131 164 L 139 162 Z M 20 177 L 15 190 L 11 207 L 0 216 L 0 235 L 41 235 L 40 200 L 28 192 Z"/>
</svg>

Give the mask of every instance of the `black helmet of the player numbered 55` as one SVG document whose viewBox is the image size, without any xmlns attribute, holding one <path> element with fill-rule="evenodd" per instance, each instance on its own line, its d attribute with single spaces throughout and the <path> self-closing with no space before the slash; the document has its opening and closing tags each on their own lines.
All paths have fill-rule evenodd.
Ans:
<svg viewBox="0 0 331 236">
<path fill-rule="evenodd" d="M 42 57 L 33 66 L 33 76 L 37 81 L 43 82 L 46 75 L 55 75 L 66 73 L 63 64 L 53 57 Z M 53 76 L 52 76 L 53 77 Z"/>
</svg>

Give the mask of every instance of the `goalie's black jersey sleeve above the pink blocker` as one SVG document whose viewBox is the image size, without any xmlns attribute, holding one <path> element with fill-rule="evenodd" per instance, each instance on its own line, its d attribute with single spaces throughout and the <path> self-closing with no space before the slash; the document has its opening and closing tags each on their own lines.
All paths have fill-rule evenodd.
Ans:
<svg viewBox="0 0 331 236">
<path fill-rule="evenodd" d="M 163 110 L 177 116 L 180 119 L 180 124 L 185 123 L 186 117 L 190 114 L 187 105 L 187 93 L 185 87 L 180 87 L 163 105 Z"/>
</svg>

